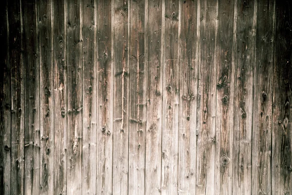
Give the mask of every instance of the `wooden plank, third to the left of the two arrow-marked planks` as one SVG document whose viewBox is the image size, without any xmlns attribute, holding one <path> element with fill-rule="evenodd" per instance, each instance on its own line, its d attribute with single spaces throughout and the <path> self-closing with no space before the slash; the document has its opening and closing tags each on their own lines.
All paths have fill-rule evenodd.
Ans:
<svg viewBox="0 0 292 195">
<path fill-rule="evenodd" d="M 82 194 L 82 15 L 80 0 L 67 1 L 67 194 Z"/>
</svg>

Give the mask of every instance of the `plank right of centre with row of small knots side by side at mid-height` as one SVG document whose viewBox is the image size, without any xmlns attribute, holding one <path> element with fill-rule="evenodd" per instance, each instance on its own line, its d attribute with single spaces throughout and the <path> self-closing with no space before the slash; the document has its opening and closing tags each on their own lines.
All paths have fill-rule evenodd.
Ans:
<svg viewBox="0 0 292 195">
<path fill-rule="evenodd" d="M 173 18 L 173 16 L 171 16 Z M 181 1 L 179 30 L 179 194 L 196 193 L 198 100 L 198 1 Z M 175 18 L 174 18 L 175 19 Z M 180 19 L 179 19 L 180 20 Z M 173 46 L 170 45 L 170 50 Z"/>
</svg>

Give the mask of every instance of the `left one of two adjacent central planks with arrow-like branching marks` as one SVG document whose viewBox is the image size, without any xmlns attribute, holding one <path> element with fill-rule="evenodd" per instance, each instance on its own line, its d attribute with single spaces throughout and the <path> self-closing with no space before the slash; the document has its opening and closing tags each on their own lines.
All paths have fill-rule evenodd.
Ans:
<svg viewBox="0 0 292 195">
<path fill-rule="evenodd" d="M 112 193 L 128 194 L 129 60 L 128 0 L 112 0 L 114 67 Z"/>
</svg>

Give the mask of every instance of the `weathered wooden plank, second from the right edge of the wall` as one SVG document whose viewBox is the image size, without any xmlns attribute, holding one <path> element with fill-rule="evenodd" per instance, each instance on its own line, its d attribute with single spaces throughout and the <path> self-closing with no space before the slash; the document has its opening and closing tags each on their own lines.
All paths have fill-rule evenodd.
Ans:
<svg viewBox="0 0 292 195">
<path fill-rule="evenodd" d="M 252 192 L 262 195 L 272 193 L 274 9 L 274 0 L 258 1 L 253 95 Z"/>
</svg>

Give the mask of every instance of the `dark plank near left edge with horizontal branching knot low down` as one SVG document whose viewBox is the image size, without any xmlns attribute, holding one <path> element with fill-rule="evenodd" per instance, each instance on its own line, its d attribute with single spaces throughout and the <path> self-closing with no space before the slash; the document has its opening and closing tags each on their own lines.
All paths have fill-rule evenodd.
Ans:
<svg viewBox="0 0 292 195">
<path fill-rule="evenodd" d="M 22 3 L 24 60 L 24 194 L 39 194 L 39 57 L 37 3 Z"/>
</svg>

